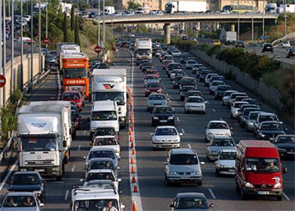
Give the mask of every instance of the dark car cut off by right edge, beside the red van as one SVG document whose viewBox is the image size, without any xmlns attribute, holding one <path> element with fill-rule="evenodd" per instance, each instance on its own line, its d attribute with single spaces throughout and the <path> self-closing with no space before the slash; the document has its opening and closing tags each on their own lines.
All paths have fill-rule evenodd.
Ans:
<svg viewBox="0 0 295 211">
<path fill-rule="evenodd" d="M 295 157 L 295 135 L 277 135 L 273 141 L 283 158 Z"/>
</svg>

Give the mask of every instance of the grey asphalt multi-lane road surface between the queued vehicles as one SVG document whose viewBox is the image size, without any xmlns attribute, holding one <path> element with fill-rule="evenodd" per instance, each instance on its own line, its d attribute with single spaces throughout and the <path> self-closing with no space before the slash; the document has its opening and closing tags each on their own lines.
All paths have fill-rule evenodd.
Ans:
<svg viewBox="0 0 295 211">
<path fill-rule="evenodd" d="M 178 60 L 178 59 L 177 59 Z M 154 58 L 154 63 L 159 70 L 160 62 Z M 178 91 L 172 89 L 172 83 L 167 78 L 165 71 L 160 70 L 165 93 L 170 98 L 170 105 L 175 108 L 175 124 L 178 130 L 182 131 L 182 148 L 187 148 L 188 144 L 194 148 L 201 161 L 205 161 L 202 166 L 204 180 L 202 186 L 196 185 L 175 185 L 166 187 L 164 181 L 164 165 L 167 156 L 167 150 L 152 150 L 150 133 L 155 130 L 151 125 L 151 115 L 146 111 L 147 98 L 144 97 L 143 73 L 138 66 L 133 63 L 131 53 L 126 50 L 120 50 L 115 54 L 115 66 L 113 68 L 126 68 L 128 71 L 128 83 L 133 82 L 134 115 L 135 115 L 135 140 L 137 152 L 137 168 L 140 190 L 140 200 L 143 210 L 170 210 L 170 203 L 177 192 L 203 192 L 209 202 L 216 205 L 214 210 L 295 210 L 295 192 L 294 192 L 294 160 L 283 160 L 283 166 L 289 169 L 284 177 L 284 197 L 282 201 L 276 201 L 271 198 L 260 198 L 252 200 L 241 200 L 239 193 L 235 191 L 234 177 L 217 177 L 214 173 L 214 163 L 209 162 L 205 155 L 205 125 L 209 120 L 227 120 L 233 127 L 233 137 L 236 143 L 241 139 L 252 139 L 252 133 L 246 133 L 244 129 L 239 128 L 237 120 L 230 118 L 229 110 L 222 106 L 221 101 L 214 101 L 209 96 L 208 88 L 199 83 L 199 89 L 209 105 L 207 113 L 203 114 L 185 114 L 184 103 L 179 101 Z M 185 70 L 188 75 L 191 71 Z M 133 72 L 133 73 L 132 73 Z M 33 90 L 29 101 L 46 101 L 58 99 L 58 76 L 56 73 L 51 75 L 40 83 Z M 239 91 L 245 91 L 234 83 L 227 81 L 227 84 Z M 249 96 L 253 96 L 249 93 Z M 259 100 L 259 99 L 258 99 Z M 80 185 L 80 179 L 84 176 L 85 160 L 88 150 L 90 150 L 89 123 L 87 117 L 90 115 L 90 103 L 86 103 L 81 112 L 82 122 L 81 130 L 78 130 L 77 137 L 73 140 L 71 149 L 71 159 L 66 165 L 66 173 L 63 180 L 56 182 L 48 180 L 46 183 L 46 205 L 44 210 L 68 210 L 71 200 L 71 189 L 73 185 Z M 262 110 L 274 111 L 262 103 Z M 289 127 L 289 132 L 294 133 L 294 128 Z M 121 159 L 120 159 L 120 195 L 125 210 L 132 210 L 130 184 L 129 184 L 129 165 L 128 165 L 128 130 L 120 131 Z M 17 170 L 17 168 L 15 169 Z M 2 196 L 5 194 L 5 186 L 1 190 Z M 142 211 L 142 210 L 140 210 Z"/>
</svg>

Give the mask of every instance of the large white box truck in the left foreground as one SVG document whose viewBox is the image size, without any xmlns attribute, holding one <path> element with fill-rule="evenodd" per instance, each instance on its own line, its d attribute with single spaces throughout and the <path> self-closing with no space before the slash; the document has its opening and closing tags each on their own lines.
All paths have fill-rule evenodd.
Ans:
<svg viewBox="0 0 295 211">
<path fill-rule="evenodd" d="M 23 105 L 17 114 L 19 170 L 36 170 L 43 176 L 61 180 L 71 147 L 67 120 L 71 107 L 46 102 L 36 104 Z"/>
</svg>

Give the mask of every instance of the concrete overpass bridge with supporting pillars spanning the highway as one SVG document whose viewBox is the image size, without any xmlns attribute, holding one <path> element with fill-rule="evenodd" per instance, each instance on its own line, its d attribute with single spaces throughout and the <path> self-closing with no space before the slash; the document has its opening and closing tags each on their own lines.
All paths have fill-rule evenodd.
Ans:
<svg viewBox="0 0 295 211">
<path fill-rule="evenodd" d="M 220 14 L 220 13 L 180 13 L 180 14 L 134 14 L 134 15 L 110 15 L 103 16 L 100 24 L 165 24 L 165 36 L 167 43 L 170 43 L 170 24 L 171 23 L 227 23 L 232 24 L 231 30 L 234 31 L 234 24 L 239 23 L 262 23 L 274 24 L 278 16 L 276 14 Z"/>
</svg>

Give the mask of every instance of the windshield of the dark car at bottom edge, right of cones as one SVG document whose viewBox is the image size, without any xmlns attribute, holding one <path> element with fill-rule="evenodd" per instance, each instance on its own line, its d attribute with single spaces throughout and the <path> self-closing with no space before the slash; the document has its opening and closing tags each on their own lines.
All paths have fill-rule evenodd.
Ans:
<svg viewBox="0 0 295 211">
<path fill-rule="evenodd" d="M 177 202 L 177 210 L 195 210 L 208 208 L 206 200 L 197 197 L 181 197 Z"/>
</svg>

